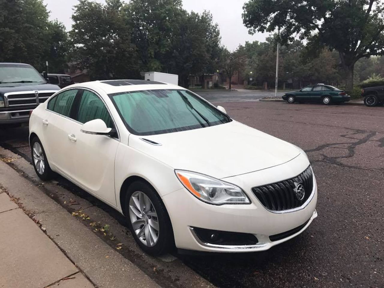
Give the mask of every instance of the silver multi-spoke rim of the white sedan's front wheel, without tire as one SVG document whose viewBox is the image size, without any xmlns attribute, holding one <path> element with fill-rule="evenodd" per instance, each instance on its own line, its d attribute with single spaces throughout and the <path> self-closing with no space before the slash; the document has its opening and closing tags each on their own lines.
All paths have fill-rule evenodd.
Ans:
<svg viewBox="0 0 384 288">
<path fill-rule="evenodd" d="M 159 239 L 159 219 L 151 200 L 141 191 L 129 199 L 129 218 L 137 238 L 147 247 L 156 245 Z"/>
</svg>

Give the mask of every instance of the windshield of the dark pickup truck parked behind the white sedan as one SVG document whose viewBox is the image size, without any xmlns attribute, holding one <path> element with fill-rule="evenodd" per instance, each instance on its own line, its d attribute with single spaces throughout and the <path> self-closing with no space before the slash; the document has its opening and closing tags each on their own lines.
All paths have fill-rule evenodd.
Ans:
<svg viewBox="0 0 384 288">
<path fill-rule="evenodd" d="M 46 83 L 43 77 L 27 65 L 0 65 L 0 84 L 9 83 Z"/>
</svg>

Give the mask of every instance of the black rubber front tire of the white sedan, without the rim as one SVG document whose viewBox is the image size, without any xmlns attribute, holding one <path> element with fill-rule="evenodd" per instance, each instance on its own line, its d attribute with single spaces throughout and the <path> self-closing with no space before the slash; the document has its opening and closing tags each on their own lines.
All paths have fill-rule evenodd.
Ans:
<svg viewBox="0 0 384 288">
<path fill-rule="evenodd" d="M 142 243 L 132 227 L 129 200 L 131 199 L 132 194 L 137 191 L 144 193 L 151 200 L 152 205 L 156 210 L 157 221 L 159 223 L 159 233 L 157 242 L 152 247 Z M 156 190 L 145 181 L 135 181 L 129 185 L 125 199 L 125 216 L 127 218 L 128 228 L 131 230 L 133 238 L 144 252 L 149 255 L 157 256 L 169 252 L 169 250 L 174 246 L 172 224 L 170 222 L 167 209 Z"/>
</svg>

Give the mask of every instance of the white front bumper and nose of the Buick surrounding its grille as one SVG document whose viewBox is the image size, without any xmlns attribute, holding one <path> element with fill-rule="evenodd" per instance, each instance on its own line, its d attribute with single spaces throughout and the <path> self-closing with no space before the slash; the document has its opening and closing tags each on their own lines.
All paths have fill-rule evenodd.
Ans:
<svg viewBox="0 0 384 288">
<path fill-rule="evenodd" d="M 165 195 L 163 201 L 171 218 L 176 247 L 205 252 L 256 252 L 267 250 L 303 232 L 317 217 L 315 178 L 313 191 L 308 202 L 294 211 L 290 210 L 290 212 L 267 210 L 251 191 L 255 185 L 276 182 L 276 175 L 279 175 L 279 179 L 283 180 L 300 174 L 309 165 L 308 160 L 303 159 L 303 157 L 305 156 L 298 156 L 286 164 L 276 167 L 224 179 L 243 188 L 252 201 L 249 205 L 210 205 L 196 199 L 185 188 Z M 255 181 L 255 179 L 259 180 Z M 306 224 L 303 225 L 304 223 Z M 300 227 L 301 225 L 303 226 Z M 258 242 L 254 245 L 204 243 L 197 237 L 193 227 L 249 233 L 255 235 Z M 285 238 L 276 241 L 270 240 L 270 236 L 298 227 L 300 229 L 294 230 L 294 233 L 288 233 Z"/>
</svg>

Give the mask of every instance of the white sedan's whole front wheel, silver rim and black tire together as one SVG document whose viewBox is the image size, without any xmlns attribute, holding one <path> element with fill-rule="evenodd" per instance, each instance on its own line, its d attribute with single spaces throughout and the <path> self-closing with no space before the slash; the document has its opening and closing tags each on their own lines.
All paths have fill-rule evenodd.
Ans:
<svg viewBox="0 0 384 288">
<path fill-rule="evenodd" d="M 144 252 L 150 255 L 167 253 L 174 243 L 167 210 L 157 192 L 144 181 L 128 187 L 125 214 L 129 229 Z"/>
</svg>

